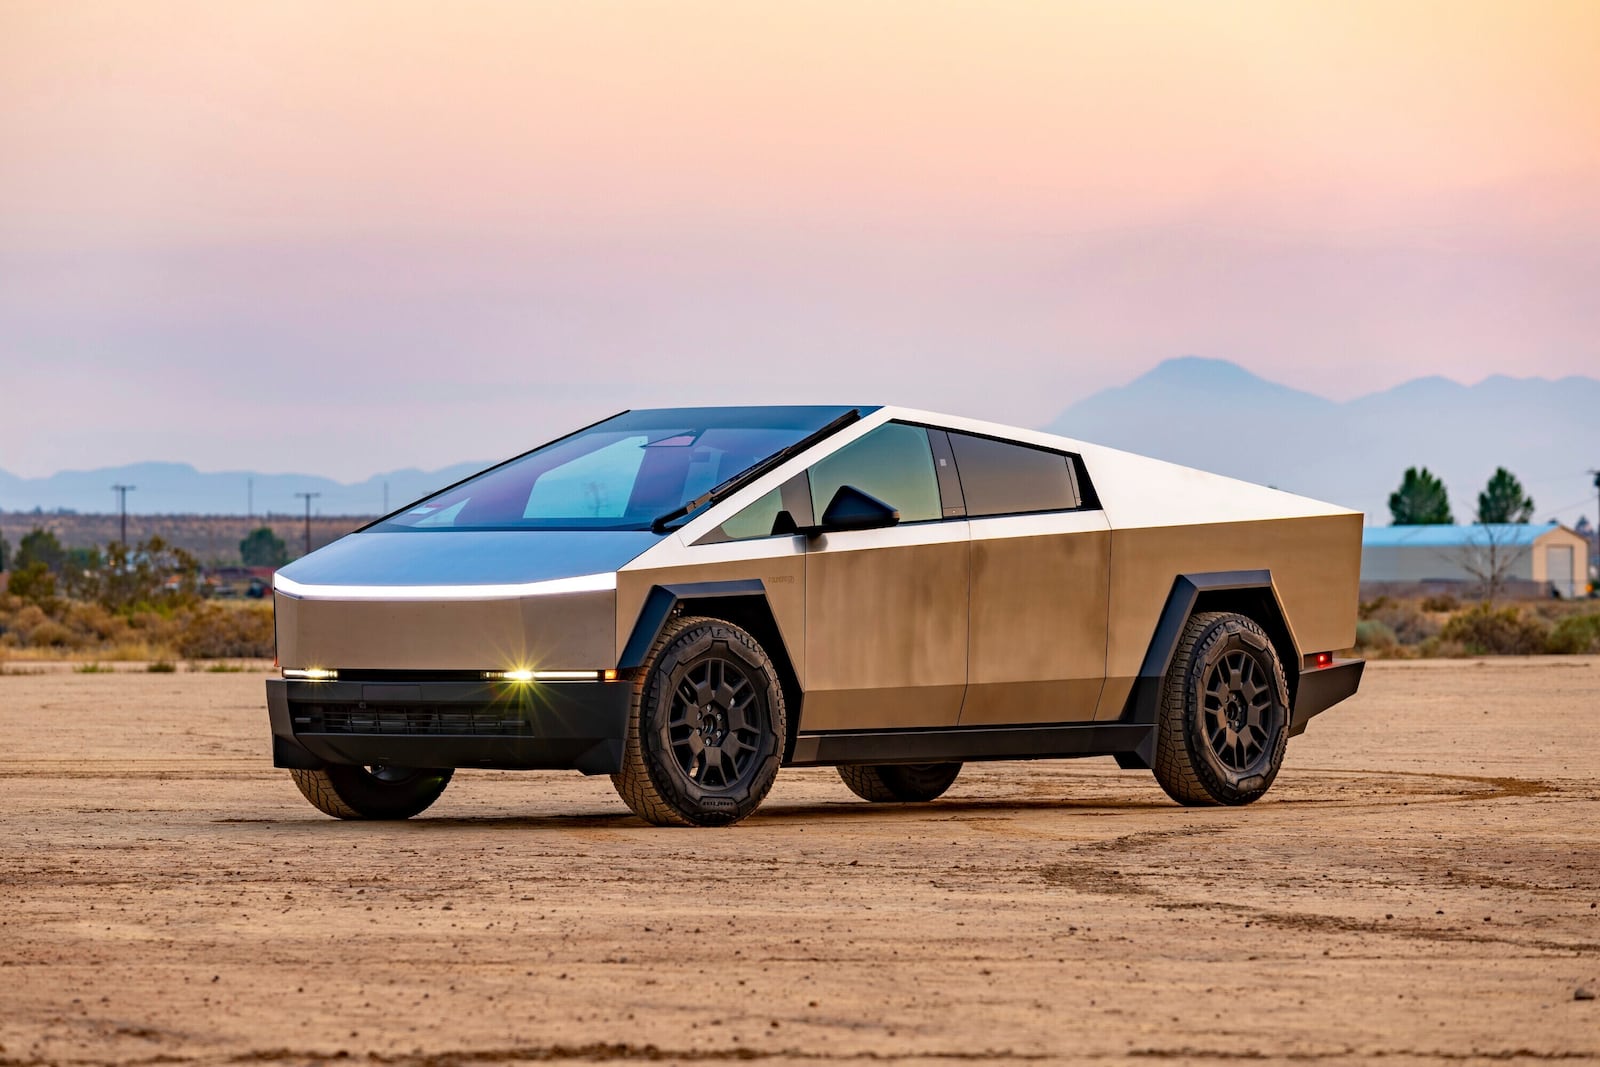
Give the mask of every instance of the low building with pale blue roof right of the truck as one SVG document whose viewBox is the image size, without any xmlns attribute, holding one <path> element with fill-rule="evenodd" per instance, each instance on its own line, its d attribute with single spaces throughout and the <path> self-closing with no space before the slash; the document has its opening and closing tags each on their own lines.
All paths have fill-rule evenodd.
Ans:
<svg viewBox="0 0 1600 1067">
<path fill-rule="evenodd" d="M 1589 541 L 1550 523 L 1368 526 L 1362 531 L 1362 584 L 1483 584 L 1494 571 L 1507 592 L 1584 597 Z"/>
</svg>

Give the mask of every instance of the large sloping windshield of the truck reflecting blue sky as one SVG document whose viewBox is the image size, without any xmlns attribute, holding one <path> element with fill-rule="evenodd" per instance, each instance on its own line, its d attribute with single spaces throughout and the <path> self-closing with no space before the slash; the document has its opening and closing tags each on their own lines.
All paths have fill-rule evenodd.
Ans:
<svg viewBox="0 0 1600 1067">
<path fill-rule="evenodd" d="M 627 411 L 437 493 L 371 530 L 648 530 L 850 408 Z"/>
</svg>

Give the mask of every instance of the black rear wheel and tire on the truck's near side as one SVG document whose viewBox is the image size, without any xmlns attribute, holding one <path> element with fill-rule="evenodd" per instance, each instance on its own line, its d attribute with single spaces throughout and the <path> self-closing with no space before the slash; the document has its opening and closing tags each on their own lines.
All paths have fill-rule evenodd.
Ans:
<svg viewBox="0 0 1600 1067">
<path fill-rule="evenodd" d="M 1181 805 L 1248 805 L 1272 785 L 1290 736 L 1290 686 L 1266 630 L 1189 619 L 1162 683 L 1155 781 Z"/>
</svg>

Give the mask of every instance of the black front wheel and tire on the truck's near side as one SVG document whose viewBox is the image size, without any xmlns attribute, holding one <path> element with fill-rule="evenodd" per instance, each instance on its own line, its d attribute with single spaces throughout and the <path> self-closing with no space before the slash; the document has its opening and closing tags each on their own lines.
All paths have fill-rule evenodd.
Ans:
<svg viewBox="0 0 1600 1067">
<path fill-rule="evenodd" d="M 656 825 L 731 825 L 778 777 L 786 734 L 778 669 L 746 630 L 680 616 L 634 678 L 622 801 Z"/>
</svg>

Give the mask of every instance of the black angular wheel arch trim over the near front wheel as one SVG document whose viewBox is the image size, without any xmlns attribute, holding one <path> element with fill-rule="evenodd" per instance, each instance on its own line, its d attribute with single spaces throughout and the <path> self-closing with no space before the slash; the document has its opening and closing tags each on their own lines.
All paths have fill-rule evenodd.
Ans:
<svg viewBox="0 0 1600 1067">
<path fill-rule="evenodd" d="M 778 681 L 784 689 L 784 704 L 789 709 L 784 737 L 782 761 L 794 757 L 795 731 L 800 725 L 800 675 L 795 672 L 789 645 L 782 630 L 778 629 L 778 617 L 766 601 L 766 587 L 760 579 L 734 579 L 720 582 L 683 582 L 670 585 L 651 585 L 645 595 L 645 605 L 634 621 L 627 643 L 618 661 L 619 670 L 637 670 L 645 665 L 651 645 L 656 643 L 661 629 L 669 619 L 678 614 L 702 614 L 723 622 L 733 622 L 749 632 L 778 667 Z"/>
</svg>

